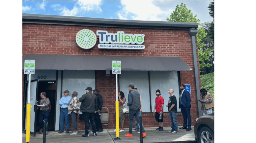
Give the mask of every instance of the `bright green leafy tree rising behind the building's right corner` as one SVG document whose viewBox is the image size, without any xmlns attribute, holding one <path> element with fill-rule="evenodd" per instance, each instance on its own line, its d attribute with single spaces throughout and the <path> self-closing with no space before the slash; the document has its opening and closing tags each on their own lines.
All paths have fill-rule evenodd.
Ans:
<svg viewBox="0 0 256 143">
<path fill-rule="evenodd" d="M 205 63 L 205 61 L 209 60 L 209 53 L 210 51 L 201 50 L 205 44 L 202 42 L 203 38 L 206 37 L 205 29 L 202 27 L 201 21 L 196 18 L 197 14 L 194 16 L 193 12 L 190 9 L 186 8 L 186 4 L 181 3 L 180 6 L 177 5 L 173 13 L 171 13 L 170 18 L 167 18 L 167 21 L 173 21 L 173 22 L 193 22 L 198 23 L 198 32 L 196 34 L 196 40 L 197 40 L 197 48 L 198 48 L 198 58 L 199 58 L 199 67 L 200 72 L 203 72 L 205 67 L 210 67 L 212 64 Z"/>
</svg>

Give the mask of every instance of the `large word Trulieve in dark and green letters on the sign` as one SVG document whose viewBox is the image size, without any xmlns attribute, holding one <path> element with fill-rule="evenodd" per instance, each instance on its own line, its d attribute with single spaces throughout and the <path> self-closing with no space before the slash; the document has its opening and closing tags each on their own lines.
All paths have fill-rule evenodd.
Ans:
<svg viewBox="0 0 256 143">
<path fill-rule="evenodd" d="M 124 31 L 117 33 L 108 33 L 104 30 L 97 30 L 97 35 L 100 37 L 100 44 L 137 44 L 144 42 L 144 34 L 125 34 Z"/>
</svg>

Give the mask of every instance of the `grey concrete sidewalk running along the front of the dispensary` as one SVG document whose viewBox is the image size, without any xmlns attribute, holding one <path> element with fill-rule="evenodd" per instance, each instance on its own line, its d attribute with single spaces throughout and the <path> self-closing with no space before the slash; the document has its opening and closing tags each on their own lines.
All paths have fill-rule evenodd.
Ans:
<svg viewBox="0 0 256 143">
<path fill-rule="evenodd" d="M 180 141 L 195 141 L 194 138 L 194 127 L 191 127 L 191 131 L 186 131 L 179 129 L 177 134 L 171 134 L 168 131 L 171 127 L 163 127 L 164 131 L 159 132 L 156 128 L 145 128 L 145 133 L 147 136 L 143 138 L 143 143 L 159 143 L 159 142 L 180 142 Z M 84 131 L 78 131 L 78 134 L 70 135 L 56 132 L 48 132 L 46 135 L 46 143 L 84 143 L 96 142 L 96 143 L 139 143 L 140 133 L 132 132 L 132 137 L 126 137 L 125 134 L 128 133 L 129 129 L 125 128 L 124 132 L 119 132 L 119 138 L 121 140 L 114 140 L 116 138 L 116 131 L 114 129 L 103 130 L 103 132 L 98 133 L 97 136 L 93 136 L 92 131 L 89 133 L 90 137 L 82 137 L 85 134 Z M 26 142 L 26 134 L 22 134 L 22 142 Z M 36 136 L 30 136 L 30 143 L 43 143 L 43 134 L 36 133 Z"/>
</svg>

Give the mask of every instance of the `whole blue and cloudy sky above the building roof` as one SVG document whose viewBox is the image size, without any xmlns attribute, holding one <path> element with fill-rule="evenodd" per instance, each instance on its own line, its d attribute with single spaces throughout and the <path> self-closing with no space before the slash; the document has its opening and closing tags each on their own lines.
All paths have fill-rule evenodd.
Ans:
<svg viewBox="0 0 256 143">
<path fill-rule="evenodd" d="M 107 18 L 122 20 L 167 21 L 177 5 L 186 4 L 201 23 L 213 21 L 210 1 L 22 1 L 22 13 Z"/>
</svg>

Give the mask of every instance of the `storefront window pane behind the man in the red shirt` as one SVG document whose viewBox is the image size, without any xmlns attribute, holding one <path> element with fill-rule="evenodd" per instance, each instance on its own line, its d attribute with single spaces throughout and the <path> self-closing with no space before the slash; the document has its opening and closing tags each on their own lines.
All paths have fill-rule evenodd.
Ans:
<svg viewBox="0 0 256 143">
<path fill-rule="evenodd" d="M 168 99 L 170 95 L 168 94 L 169 89 L 174 90 L 174 95 L 177 99 L 177 108 L 179 109 L 179 81 L 177 71 L 150 71 L 150 89 L 151 89 L 151 104 L 152 112 L 155 107 L 156 101 L 156 90 L 159 89 L 161 96 L 164 99 L 164 112 L 168 112 L 167 107 Z"/>
</svg>

